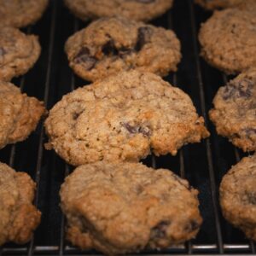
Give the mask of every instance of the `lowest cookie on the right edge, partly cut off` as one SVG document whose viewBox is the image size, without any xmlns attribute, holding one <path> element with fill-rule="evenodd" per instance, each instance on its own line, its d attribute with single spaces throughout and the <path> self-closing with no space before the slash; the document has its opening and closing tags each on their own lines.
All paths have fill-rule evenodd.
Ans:
<svg viewBox="0 0 256 256">
<path fill-rule="evenodd" d="M 256 154 L 243 158 L 220 184 L 224 218 L 256 241 Z"/>
</svg>

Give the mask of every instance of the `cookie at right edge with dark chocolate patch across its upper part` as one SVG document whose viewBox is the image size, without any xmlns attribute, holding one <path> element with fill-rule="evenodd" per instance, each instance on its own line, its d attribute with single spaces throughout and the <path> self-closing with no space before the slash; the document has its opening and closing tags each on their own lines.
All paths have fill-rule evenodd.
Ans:
<svg viewBox="0 0 256 256">
<path fill-rule="evenodd" d="M 243 151 L 256 149 L 256 67 L 241 73 L 213 99 L 209 112 L 219 135 Z"/>
</svg>

